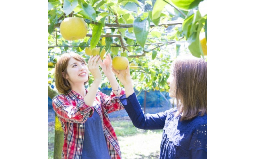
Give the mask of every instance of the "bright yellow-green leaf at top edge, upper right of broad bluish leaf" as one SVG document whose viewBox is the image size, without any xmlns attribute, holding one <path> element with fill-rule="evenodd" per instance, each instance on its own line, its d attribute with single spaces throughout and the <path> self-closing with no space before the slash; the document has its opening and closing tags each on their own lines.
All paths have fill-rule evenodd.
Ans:
<svg viewBox="0 0 256 159">
<path fill-rule="evenodd" d="M 160 15 L 162 13 L 162 10 L 164 6 L 167 3 L 163 0 L 157 0 L 154 4 L 153 10 L 152 10 L 152 22 L 157 26 L 160 21 Z"/>
</svg>

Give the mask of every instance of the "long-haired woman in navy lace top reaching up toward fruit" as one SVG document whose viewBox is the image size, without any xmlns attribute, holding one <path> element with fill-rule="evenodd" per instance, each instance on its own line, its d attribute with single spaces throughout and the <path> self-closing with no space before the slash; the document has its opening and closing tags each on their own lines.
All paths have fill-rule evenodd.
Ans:
<svg viewBox="0 0 256 159">
<path fill-rule="evenodd" d="M 177 107 L 145 114 L 133 90 L 129 67 L 114 70 L 126 94 L 120 97 L 133 125 L 140 129 L 163 129 L 159 159 L 207 159 L 207 62 L 181 56 L 174 60 L 167 80 L 169 96 Z"/>
</svg>

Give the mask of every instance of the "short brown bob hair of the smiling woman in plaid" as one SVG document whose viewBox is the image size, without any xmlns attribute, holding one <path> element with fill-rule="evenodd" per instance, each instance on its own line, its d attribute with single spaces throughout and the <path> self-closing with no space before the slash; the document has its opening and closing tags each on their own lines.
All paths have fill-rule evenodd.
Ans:
<svg viewBox="0 0 256 159">
<path fill-rule="evenodd" d="M 67 73 L 66 68 L 67 68 L 68 61 L 70 60 L 71 57 L 73 57 L 78 61 L 84 62 L 86 64 L 84 58 L 78 55 L 77 53 L 69 52 L 61 55 L 61 57 L 57 60 L 57 63 L 55 64 L 55 73 L 54 73 L 56 89 L 61 94 L 66 94 L 67 91 L 71 89 L 70 83 L 67 81 L 67 79 L 65 79 L 62 76 L 62 72 L 64 72 L 65 74 Z M 88 80 L 89 80 L 89 76 L 88 76 Z"/>
</svg>

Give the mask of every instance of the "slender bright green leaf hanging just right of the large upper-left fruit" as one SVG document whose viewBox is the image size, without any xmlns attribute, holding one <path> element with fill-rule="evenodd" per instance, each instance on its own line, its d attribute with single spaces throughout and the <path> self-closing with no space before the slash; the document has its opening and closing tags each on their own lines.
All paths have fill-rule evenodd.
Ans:
<svg viewBox="0 0 256 159">
<path fill-rule="evenodd" d="M 99 42 L 101 30 L 102 30 L 102 24 L 92 24 L 93 26 L 93 33 L 92 33 L 92 40 L 91 40 L 91 49 L 93 49 Z"/>
</svg>

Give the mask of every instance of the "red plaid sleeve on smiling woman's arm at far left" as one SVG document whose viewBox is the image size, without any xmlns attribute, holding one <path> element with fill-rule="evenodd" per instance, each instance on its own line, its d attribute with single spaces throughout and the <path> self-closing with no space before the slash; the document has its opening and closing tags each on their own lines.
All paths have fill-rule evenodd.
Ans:
<svg viewBox="0 0 256 159">
<path fill-rule="evenodd" d="M 83 123 L 94 112 L 83 99 L 68 100 L 65 95 L 57 95 L 52 100 L 53 109 L 61 120 L 71 123 Z"/>
</svg>

